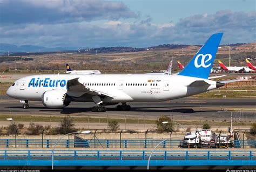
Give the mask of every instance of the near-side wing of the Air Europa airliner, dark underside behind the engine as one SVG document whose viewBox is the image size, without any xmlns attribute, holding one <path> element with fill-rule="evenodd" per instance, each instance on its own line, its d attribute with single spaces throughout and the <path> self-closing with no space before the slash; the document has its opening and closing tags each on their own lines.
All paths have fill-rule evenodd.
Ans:
<svg viewBox="0 0 256 172">
<path fill-rule="evenodd" d="M 95 89 L 90 89 L 89 87 L 86 87 L 82 83 L 78 81 L 79 78 L 75 78 L 72 80 L 68 81 L 67 87 L 68 87 L 68 92 L 70 93 L 70 96 L 76 96 L 76 95 L 81 95 L 81 94 L 89 94 L 92 96 L 107 96 L 113 98 L 112 95 L 107 94 L 106 92 L 98 91 Z M 79 94 L 80 92 L 80 94 Z"/>
</svg>

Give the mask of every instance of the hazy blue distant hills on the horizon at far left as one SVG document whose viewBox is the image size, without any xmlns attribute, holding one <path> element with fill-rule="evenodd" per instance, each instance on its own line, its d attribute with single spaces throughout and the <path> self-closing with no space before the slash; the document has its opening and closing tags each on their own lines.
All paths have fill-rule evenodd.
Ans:
<svg viewBox="0 0 256 172">
<path fill-rule="evenodd" d="M 55 47 L 55 48 L 48 48 L 42 46 L 35 46 L 35 45 L 12 45 L 12 44 L 4 44 L 0 43 L 0 52 L 57 52 L 57 51 L 74 51 L 77 50 L 76 47 Z"/>
</svg>

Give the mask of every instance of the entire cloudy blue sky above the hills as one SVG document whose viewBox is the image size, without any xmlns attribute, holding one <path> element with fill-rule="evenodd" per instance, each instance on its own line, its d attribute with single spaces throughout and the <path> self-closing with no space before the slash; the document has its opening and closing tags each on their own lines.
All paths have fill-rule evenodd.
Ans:
<svg viewBox="0 0 256 172">
<path fill-rule="evenodd" d="M 150 47 L 256 41 L 255 0 L 0 0 L 0 42 Z"/>
</svg>

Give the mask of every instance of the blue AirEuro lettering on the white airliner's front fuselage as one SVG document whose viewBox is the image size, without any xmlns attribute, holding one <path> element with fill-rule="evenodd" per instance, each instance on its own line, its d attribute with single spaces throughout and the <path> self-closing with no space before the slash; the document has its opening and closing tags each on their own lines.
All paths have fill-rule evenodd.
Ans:
<svg viewBox="0 0 256 172">
<path fill-rule="evenodd" d="M 42 85 L 43 84 L 43 85 Z M 39 77 L 32 78 L 29 82 L 29 87 L 65 87 L 66 80 L 50 80 L 50 78 L 44 78 L 41 80 Z"/>
</svg>

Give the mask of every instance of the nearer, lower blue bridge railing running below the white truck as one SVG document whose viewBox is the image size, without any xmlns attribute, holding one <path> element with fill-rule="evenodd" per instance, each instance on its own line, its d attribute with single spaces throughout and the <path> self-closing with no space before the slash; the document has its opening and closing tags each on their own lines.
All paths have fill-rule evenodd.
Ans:
<svg viewBox="0 0 256 172">
<path fill-rule="evenodd" d="M 55 160 L 147 160 L 150 150 L 55 150 Z M 0 160 L 50 160 L 52 150 L 0 150 Z M 256 150 L 156 150 L 152 160 L 256 160 Z"/>
</svg>

